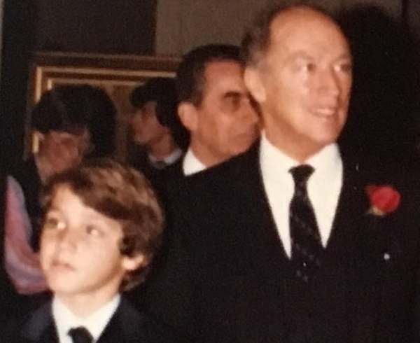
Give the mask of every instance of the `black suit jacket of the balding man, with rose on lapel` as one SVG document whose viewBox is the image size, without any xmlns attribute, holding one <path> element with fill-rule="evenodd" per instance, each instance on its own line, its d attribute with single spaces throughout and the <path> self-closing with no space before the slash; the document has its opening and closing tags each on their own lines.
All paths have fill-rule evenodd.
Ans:
<svg viewBox="0 0 420 343">
<path fill-rule="evenodd" d="M 276 232 L 258 144 L 186 179 L 151 310 L 196 342 L 419 342 L 419 183 L 399 168 L 343 162 L 326 262 L 307 288 Z M 398 209 L 367 214 L 371 183 L 393 185 Z"/>
</svg>

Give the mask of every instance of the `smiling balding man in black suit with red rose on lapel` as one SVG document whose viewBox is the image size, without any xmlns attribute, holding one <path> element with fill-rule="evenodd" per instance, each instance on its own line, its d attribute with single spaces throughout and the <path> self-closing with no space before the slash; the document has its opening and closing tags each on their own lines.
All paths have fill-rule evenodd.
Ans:
<svg viewBox="0 0 420 343">
<path fill-rule="evenodd" d="M 335 143 L 352 81 L 342 31 L 280 5 L 244 55 L 262 139 L 174 193 L 155 286 L 167 304 L 151 308 L 195 342 L 418 342 L 418 181 Z"/>
</svg>

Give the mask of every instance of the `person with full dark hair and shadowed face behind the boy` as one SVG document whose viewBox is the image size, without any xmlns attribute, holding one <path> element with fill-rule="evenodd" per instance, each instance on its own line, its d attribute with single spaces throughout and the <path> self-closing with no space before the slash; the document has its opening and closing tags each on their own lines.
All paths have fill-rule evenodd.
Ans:
<svg viewBox="0 0 420 343">
<path fill-rule="evenodd" d="M 39 191 L 52 175 L 83 158 L 113 153 L 116 109 L 106 93 L 90 85 L 61 85 L 43 93 L 30 115 L 31 155 L 12 174 L 22 187 L 37 248 Z"/>
</svg>

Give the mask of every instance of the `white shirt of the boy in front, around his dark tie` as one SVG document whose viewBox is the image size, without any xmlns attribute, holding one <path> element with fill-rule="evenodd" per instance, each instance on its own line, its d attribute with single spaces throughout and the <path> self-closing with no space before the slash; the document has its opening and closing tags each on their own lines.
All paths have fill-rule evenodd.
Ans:
<svg viewBox="0 0 420 343">
<path fill-rule="evenodd" d="M 72 343 L 68 332 L 71 328 L 85 327 L 93 337 L 93 343 L 97 342 L 105 326 L 109 323 L 120 304 L 121 297 L 116 295 L 104 306 L 94 311 L 93 314 L 85 318 L 79 318 L 73 314 L 57 296 L 52 300 L 52 316 L 55 320 L 59 343 Z"/>
</svg>

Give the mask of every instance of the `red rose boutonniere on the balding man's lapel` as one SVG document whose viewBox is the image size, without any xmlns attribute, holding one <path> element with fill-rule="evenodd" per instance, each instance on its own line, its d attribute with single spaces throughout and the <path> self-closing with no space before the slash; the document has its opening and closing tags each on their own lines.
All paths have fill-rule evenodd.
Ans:
<svg viewBox="0 0 420 343">
<path fill-rule="evenodd" d="M 366 193 L 370 200 L 370 209 L 367 213 L 374 216 L 391 214 L 400 204 L 400 193 L 391 186 L 368 185 Z"/>
</svg>

